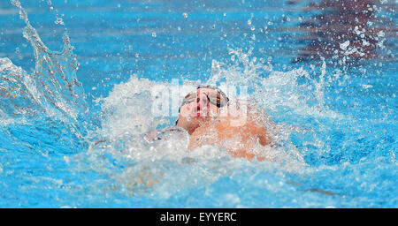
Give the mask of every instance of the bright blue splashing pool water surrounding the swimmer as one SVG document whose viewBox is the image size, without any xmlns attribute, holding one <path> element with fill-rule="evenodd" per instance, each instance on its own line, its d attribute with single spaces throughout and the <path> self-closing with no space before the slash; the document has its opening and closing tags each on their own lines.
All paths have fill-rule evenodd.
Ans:
<svg viewBox="0 0 398 226">
<path fill-rule="evenodd" d="M 351 2 L 1 1 L 0 207 L 398 207 L 397 4 Z M 249 87 L 274 161 L 145 143 L 176 80 Z"/>
</svg>

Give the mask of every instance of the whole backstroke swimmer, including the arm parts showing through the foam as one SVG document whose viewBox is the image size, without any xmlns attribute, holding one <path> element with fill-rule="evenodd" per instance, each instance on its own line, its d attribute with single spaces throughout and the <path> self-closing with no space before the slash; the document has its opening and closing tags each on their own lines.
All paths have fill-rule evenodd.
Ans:
<svg viewBox="0 0 398 226">
<path fill-rule="evenodd" d="M 175 126 L 147 132 L 144 139 L 148 143 L 157 143 L 177 136 L 178 139 L 187 138 L 191 151 L 214 145 L 236 158 L 264 161 L 264 155 L 255 150 L 274 143 L 264 127 L 269 120 L 253 106 L 233 103 L 218 87 L 198 86 L 183 99 Z M 195 160 L 184 159 L 183 162 L 189 164 Z M 162 177 L 162 171 L 152 173 L 149 168 L 142 167 L 134 173 L 126 173 L 123 181 L 127 181 L 129 194 L 134 195 L 157 185 Z"/>
</svg>

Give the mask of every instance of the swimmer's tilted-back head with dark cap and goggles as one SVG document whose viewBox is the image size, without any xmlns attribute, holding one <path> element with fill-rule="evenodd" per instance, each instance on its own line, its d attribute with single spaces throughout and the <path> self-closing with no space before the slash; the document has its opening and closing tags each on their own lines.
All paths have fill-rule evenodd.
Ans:
<svg viewBox="0 0 398 226">
<path fill-rule="evenodd" d="M 228 102 L 228 97 L 218 87 L 198 86 L 185 96 L 176 124 L 191 134 L 201 124 L 218 117 L 219 109 Z"/>
</svg>

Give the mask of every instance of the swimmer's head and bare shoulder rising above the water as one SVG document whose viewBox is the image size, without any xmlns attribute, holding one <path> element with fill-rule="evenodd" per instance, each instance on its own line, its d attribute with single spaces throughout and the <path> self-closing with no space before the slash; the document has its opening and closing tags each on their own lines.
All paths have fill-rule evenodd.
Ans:
<svg viewBox="0 0 398 226">
<path fill-rule="evenodd" d="M 176 127 L 184 128 L 190 135 L 189 150 L 204 145 L 223 147 L 233 157 L 264 157 L 253 150 L 258 146 L 272 145 L 264 128 L 267 118 L 254 107 L 241 102 L 231 104 L 218 87 L 198 86 L 187 94 L 180 106 Z"/>
</svg>

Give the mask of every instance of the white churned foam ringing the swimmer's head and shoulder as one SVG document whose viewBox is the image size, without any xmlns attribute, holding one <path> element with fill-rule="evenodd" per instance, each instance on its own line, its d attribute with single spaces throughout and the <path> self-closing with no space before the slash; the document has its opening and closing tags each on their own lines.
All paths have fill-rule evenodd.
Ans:
<svg viewBox="0 0 398 226">
<path fill-rule="evenodd" d="M 271 65 L 249 60 L 250 55 L 241 54 L 240 50 L 231 50 L 231 54 L 235 54 L 233 64 L 213 61 L 212 74 L 206 84 L 219 82 L 221 88 L 226 87 L 226 84 L 234 87 L 245 84 L 259 110 L 276 116 L 279 121 L 283 121 L 283 113 L 287 109 L 292 113 L 285 114 L 286 117 L 295 114 L 301 121 L 305 117 L 341 117 L 323 105 L 321 93 L 325 86 L 322 79 L 325 64 L 319 69 L 321 78 L 317 81 L 311 79 L 303 69 L 274 72 Z M 302 78 L 310 79 L 310 82 L 298 84 L 298 79 Z M 184 82 L 190 84 L 194 81 Z M 118 191 L 134 195 L 158 195 L 168 199 L 175 191 L 211 185 L 219 178 L 232 177 L 237 171 L 247 168 L 255 170 L 256 174 L 275 169 L 304 173 L 308 166 L 302 157 L 303 150 L 292 143 L 290 136 L 293 132 L 302 134 L 302 142 L 306 145 L 325 148 L 314 130 L 295 124 L 277 124 L 272 120 L 264 126 L 277 139 L 278 146 L 258 146 L 253 150 L 266 156 L 265 162 L 233 158 L 216 146 L 189 151 L 188 133 L 183 134 L 182 139 L 181 136 L 172 136 L 165 141 L 148 142 L 141 135 L 143 132 L 155 130 L 159 125 L 165 127 L 171 124 L 166 118 L 151 114 L 152 102 L 156 97 L 150 91 L 157 85 L 172 87 L 171 83 L 132 76 L 126 83 L 113 87 L 108 97 L 96 100 L 101 105 L 102 126 L 94 137 L 102 141 L 93 141 L 88 153 L 80 154 L 74 162 L 89 161 L 86 167 L 111 177 L 116 183 L 112 184 L 112 188 Z M 311 90 L 309 87 L 314 88 Z M 309 90 L 312 93 L 309 94 Z M 85 170 L 84 166 L 80 170 Z"/>
</svg>

